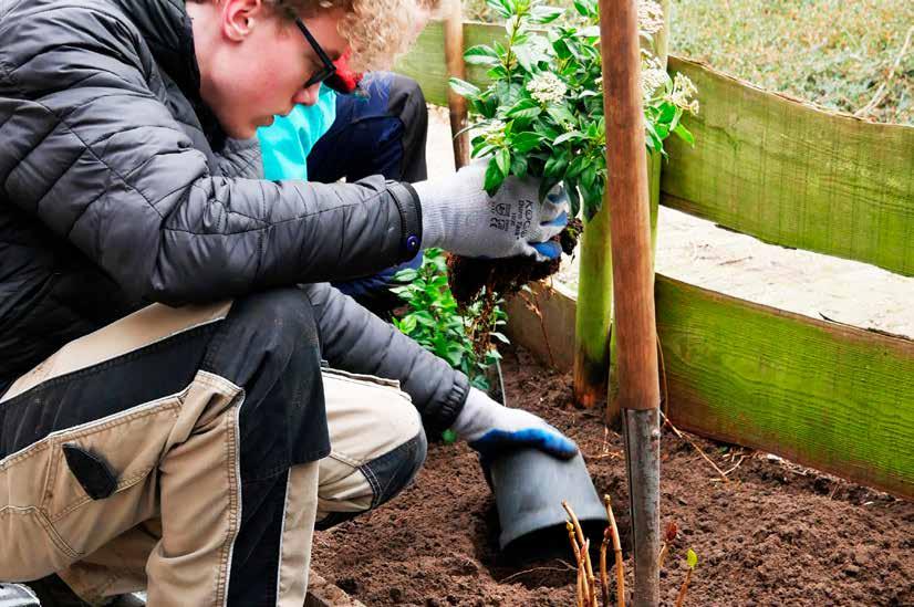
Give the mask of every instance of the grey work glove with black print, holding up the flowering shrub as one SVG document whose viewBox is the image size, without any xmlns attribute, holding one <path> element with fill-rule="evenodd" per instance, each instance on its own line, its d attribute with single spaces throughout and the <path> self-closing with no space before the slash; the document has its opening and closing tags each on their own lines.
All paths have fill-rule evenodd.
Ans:
<svg viewBox="0 0 914 607">
<path fill-rule="evenodd" d="M 444 179 L 413 185 L 422 203 L 423 248 L 468 258 L 558 258 L 561 247 L 549 239 L 568 224 L 564 188 L 555 186 L 540 203 L 539 179 L 508 177 L 489 197 L 482 189 L 487 166 L 488 158 L 480 158 Z"/>
</svg>

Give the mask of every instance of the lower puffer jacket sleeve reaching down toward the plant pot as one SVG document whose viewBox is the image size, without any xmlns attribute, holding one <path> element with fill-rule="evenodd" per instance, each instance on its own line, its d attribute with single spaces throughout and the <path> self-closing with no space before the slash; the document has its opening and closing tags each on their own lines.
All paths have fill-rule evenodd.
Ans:
<svg viewBox="0 0 914 607">
<path fill-rule="evenodd" d="M 469 390 L 464 374 L 331 285 L 302 289 L 318 317 L 322 354 L 331 367 L 399 380 L 429 437 L 454 423 Z"/>
</svg>

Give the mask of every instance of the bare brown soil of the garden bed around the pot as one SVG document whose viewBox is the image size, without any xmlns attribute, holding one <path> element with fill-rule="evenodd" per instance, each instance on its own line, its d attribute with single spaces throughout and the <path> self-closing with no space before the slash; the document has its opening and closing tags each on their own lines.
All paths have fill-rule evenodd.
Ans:
<svg viewBox="0 0 914 607">
<path fill-rule="evenodd" d="M 507 352 L 503 370 L 512 406 L 544 417 L 581 447 L 598 491 L 613 496 L 627 552 L 621 437 L 604 431 L 598 414 L 571 408 L 570 377 L 524 350 Z M 675 599 L 689 547 L 699 561 L 686 605 L 914 605 L 914 503 L 694 440 L 720 469 L 736 468 L 725 484 L 694 447 L 664 433 L 662 525 L 679 528 L 662 573 L 665 605 Z M 319 533 L 312 565 L 368 606 L 573 606 L 570 551 L 562 561 L 508 562 L 497 550 L 497 521 L 475 453 L 433 444 L 403 495 Z M 626 576 L 631 587 L 631 558 Z"/>
</svg>

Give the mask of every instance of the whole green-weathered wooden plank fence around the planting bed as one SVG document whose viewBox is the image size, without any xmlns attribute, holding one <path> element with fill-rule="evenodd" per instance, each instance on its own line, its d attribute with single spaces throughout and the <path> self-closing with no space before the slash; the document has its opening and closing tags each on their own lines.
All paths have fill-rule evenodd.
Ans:
<svg viewBox="0 0 914 607">
<path fill-rule="evenodd" d="M 470 46 L 503 29 L 467 23 L 464 35 Z M 696 83 L 702 111 L 686 121 L 694 148 L 671 140 L 662 205 L 914 275 L 914 127 L 822 112 L 682 59 L 669 69 Z M 397 71 L 446 103 L 440 24 Z M 468 77 L 484 82 L 479 70 Z M 510 333 L 569 369 L 573 295 L 540 286 L 536 296 L 542 318 L 512 302 Z M 664 276 L 656 297 L 674 423 L 914 499 L 914 342 Z"/>
</svg>

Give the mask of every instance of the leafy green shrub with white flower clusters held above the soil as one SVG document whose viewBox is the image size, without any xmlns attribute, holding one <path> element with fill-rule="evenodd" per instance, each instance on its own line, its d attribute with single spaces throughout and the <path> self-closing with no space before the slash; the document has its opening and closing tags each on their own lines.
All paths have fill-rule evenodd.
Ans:
<svg viewBox="0 0 914 607">
<path fill-rule="evenodd" d="M 564 13 L 544 0 L 486 0 L 506 19 L 505 43 L 467 49 L 467 63 L 485 65 L 491 83 L 485 91 L 458 79 L 450 86 L 480 116 L 472 137 L 472 156 L 491 156 L 486 190 L 495 193 L 509 175 L 541 178 L 540 198 L 563 181 L 572 211 L 583 208 L 590 219 L 600 209 L 606 180 L 600 27 L 596 0 L 574 0 L 580 27 L 544 25 Z M 640 0 L 638 33 L 646 41 L 663 28 L 663 9 Z M 663 142 L 676 134 L 692 143 L 681 124 L 686 112 L 698 111 L 695 85 L 684 75 L 671 79 L 657 57 L 646 53 L 642 65 L 647 148 L 664 151 Z M 612 145 L 610 143 L 610 145 Z"/>
</svg>

